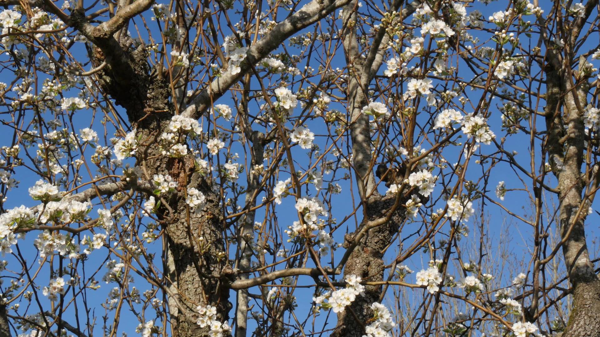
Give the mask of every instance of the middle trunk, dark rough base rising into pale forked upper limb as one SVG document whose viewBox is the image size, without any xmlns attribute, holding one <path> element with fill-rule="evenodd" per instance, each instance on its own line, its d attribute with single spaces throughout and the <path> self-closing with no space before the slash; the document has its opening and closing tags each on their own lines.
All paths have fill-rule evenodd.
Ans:
<svg viewBox="0 0 600 337">
<path fill-rule="evenodd" d="M 404 4 L 403 0 L 393 2 L 389 11 L 397 11 Z M 421 1 L 413 1 L 406 5 L 397 20 L 403 20 L 421 5 Z M 353 249 L 344 268 L 344 277 L 360 276 L 367 281 L 383 281 L 385 271 L 383 251 L 391 242 L 392 236 L 398 231 L 401 222 L 406 218 L 403 207 L 394 207 L 399 202 L 406 201 L 405 196 L 397 200 L 395 195 L 383 197 L 377 192 L 377 183 L 373 174 L 375 160 L 371 155 L 371 131 L 369 116 L 362 113 L 362 107 L 368 104 L 368 87 L 371 80 L 383 64 L 383 56 L 388 45 L 388 35 L 382 27 L 373 39 L 373 44 L 366 58 L 361 56 L 359 41 L 356 35 L 358 2 L 352 1 L 344 7 L 343 13 L 343 45 L 344 55 L 348 65 L 352 65 L 355 76 L 349 77 L 347 86 L 348 111 L 350 112 L 350 136 L 352 139 L 353 169 L 359 195 L 363 203 L 363 220 L 353 234 L 346 235 L 344 247 Z M 408 174 L 408 172 L 407 172 Z M 404 179 L 402 179 L 404 180 Z M 397 209 L 389 214 L 392 208 Z M 383 224 L 367 230 L 358 244 L 349 245 L 353 237 L 365 230 L 369 222 L 388 218 Z M 361 337 L 364 335 L 364 323 L 373 317 L 370 306 L 379 302 L 382 287 L 367 285 L 365 296 L 358 296 L 346 310 L 338 313 L 338 323 L 331 336 Z"/>
</svg>

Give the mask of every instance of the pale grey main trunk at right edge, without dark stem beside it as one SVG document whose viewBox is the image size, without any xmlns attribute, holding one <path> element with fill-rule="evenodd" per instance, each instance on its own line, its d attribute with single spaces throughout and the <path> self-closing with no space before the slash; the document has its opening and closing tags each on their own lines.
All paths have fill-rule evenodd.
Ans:
<svg viewBox="0 0 600 337">
<path fill-rule="evenodd" d="M 580 69 L 585 62 L 582 59 Z M 573 287 L 571 314 L 563 336 L 600 336 L 600 280 L 587 251 L 584 226 L 587 207 L 582 205 L 581 197 L 584 188 L 581 166 L 585 148 L 583 108 L 587 105 L 589 88 L 587 79 L 574 88 L 568 80 L 572 78 L 570 71 L 563 70 L 562 79 L 566 80 L 560 83 L 561 96 L 564 97 L 562 122 L 567 125 L 567 130 L 563 136 L 565 146 L 561 149 L 564 153 L 563 169 L 557 174 L 562 251 Z"/>
</svg>

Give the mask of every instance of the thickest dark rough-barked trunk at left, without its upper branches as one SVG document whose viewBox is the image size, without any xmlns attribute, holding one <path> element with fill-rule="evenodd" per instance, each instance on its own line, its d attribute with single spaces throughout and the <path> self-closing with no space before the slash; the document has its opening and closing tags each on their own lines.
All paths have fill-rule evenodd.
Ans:
<svg viewBox="0 0 600 337">
<path fill-rule="evenodd" d="M 127 50 L 127 47 L 122 47 Z M 97 50 L 97 56 L 103 55 Z M 158 219 L 163 220 L 168 249 L 165 276 L 172 335 L 208 335 L 209 327 L 201 329 L 196 324 L 196 306 L 216 306 L 217 319 L 221 322 L 228 319 L 231 309 L 227 300 L 229 289 L 221 286 L 219 278 L 228 262 L 221 235 L 221 200 L 213 191 L 212 180 L 194 173 L 195 158 L 191 153 L 184 158 L 169 158 L 161 154 L 156 140 L 167 130 L 171 117 L 175 115 L 169 82 L 150 75 L 142 52 L 125 52 L 124 58 L 127 60 L 124 62 L 127 72 L 133 75 L 122 79 L 123 76 L 116 73 L 123 70 L 109 65 L 101 71 L 100 78 L 104 89 L 127 111 L 137 136 L 148 144 L 138 149 L 136 164 L 143 166 L 150 179 L 154 174 L 169 174 L 178 182 L 177 191 L 161 195 L 168 205 L 161 204 L 157 210 Z M 188 210 L 185 203 L 188 187 L 199 189 L 206 197 L 205 209 L 200 214 Z"/>
</svg>

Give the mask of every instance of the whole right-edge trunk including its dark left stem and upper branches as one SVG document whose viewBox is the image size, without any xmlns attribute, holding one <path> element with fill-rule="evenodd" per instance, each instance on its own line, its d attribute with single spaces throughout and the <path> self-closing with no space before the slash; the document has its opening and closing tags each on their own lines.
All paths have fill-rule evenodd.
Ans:
<svg viewBox="0 0 600 337">
<path fill-rule="evenodd" d="M 573 289 L 572 309 L 563 336 L 600 336 L 600 279 L 594 272 L 586 245 L 584 219 L 587 206 L 582 193 L 585 186 L 581 172 L 584 158 L 585 128 L 583 109 L 587 105 L 589 82 L 580 73 L 572 71 L 574 46 L 581 28 L 598 1 L 586 4 L 586 15 L 575 20 L 569 29 L 563 59 L 554 50 L 548 50 L 546 150 L 550 160 L 562 161 L 562 170 L 555 173 L 559 189 L 559 219 L 562 252 Z M 559 27 L 560 29 L 560 27 Z M 579 70 L 586 60 L 579 59 Z M 565 127 L 563 128 L 563 125 Z"/>
</svg>

